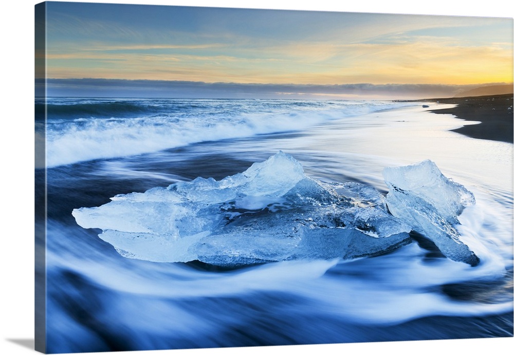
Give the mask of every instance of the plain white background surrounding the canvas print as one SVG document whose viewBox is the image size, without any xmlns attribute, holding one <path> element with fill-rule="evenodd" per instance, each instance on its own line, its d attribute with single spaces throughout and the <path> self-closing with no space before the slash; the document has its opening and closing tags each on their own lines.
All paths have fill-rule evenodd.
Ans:
<svg viewBox="0 0 514 355">
<path fill-rule="evenodd" d="M 89 1 L 91 2 L 91 1 Z M 351 4 L 334 0 L 315 1 L 179 1 L 139 0 L 105 1 L 97 3 L 133 3 L 155 5 L 188 5 L 245 7 L 268 9 L 326 10 L 350 12 L 414 13 L 434 15 L 513 17 L 509 0 L 375 0 L 353 1 Z M 33 38 L 34 5 L 37 1 L 4 2 L 0 16 L 0 63 L 3 88 L 0 98 L 0 144 L 2 153 L 0 176 L 0 354 L 33 353 L 34 339 L 34 277 L 33 277 Z M 152 355 L 218 355 L 266 354 L 283 352 L 390 353 L 398 354 L 511 354 L 514 338 L 473 339 L 454 341 L 417 341 L 395 343 L 336 344 L 317 346 L 254 347 L 231 349 L 162 350 L 126 352 Z M 111 353 L 104 353 L 111 354 Z M 114 354 L 114 353 L 113 353 Z M 119 353 L 118 353 L 119 354 Z"/>
</svg>

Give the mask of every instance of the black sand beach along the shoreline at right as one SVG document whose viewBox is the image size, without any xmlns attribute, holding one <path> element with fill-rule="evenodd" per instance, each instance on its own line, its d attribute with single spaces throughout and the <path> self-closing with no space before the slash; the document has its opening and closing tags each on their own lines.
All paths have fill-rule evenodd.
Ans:
<svg viewBox="0 0 514 355">
<path fill-rule="evenodd" d="M 453 130 L 471 138 L 490 139 L 513 143 L 512 94 L 458 97 L 422 100 L 424 102 L 456 103 L 452 109 L 432 110 L 434 113 L 452 114 L 468 121 L 480 121 Z"/>
</svg>

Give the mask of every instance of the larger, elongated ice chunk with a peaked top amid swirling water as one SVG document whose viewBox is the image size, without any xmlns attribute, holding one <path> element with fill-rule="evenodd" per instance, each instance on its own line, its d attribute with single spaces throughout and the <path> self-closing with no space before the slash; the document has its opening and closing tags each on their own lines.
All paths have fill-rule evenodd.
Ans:
<svg viewBox="0 0 514 355">
<path fill-rule="evenodd" d="M 292 259 L 351 259 L 411 241 L 376 189 L 322 183 L 279 152 L 242 173 L 197 178 L 72 211 L 123 256 L 159 262 L 242 265 Z"/>
</svg>

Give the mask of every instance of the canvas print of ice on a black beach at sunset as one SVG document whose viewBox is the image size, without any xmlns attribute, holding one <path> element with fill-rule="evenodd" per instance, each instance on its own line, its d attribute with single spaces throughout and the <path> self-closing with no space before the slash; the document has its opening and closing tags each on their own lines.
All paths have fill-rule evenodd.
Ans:
<svg viewBox="0 0 514 355">
<path fill-rule="evenodd" d="M 512 337 L 512 26 L 36 5 L 36 350 Z"/>
</svg>

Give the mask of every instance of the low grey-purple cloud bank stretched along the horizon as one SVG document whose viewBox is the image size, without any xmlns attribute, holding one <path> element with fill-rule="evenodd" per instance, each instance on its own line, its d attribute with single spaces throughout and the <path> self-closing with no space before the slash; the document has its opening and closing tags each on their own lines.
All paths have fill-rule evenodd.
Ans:
<svg viewBox="0 0 514 355">
<path fill-rule="evenodd" d="M 45 85 L 36 79 L 36 88 Z M 482 85 L 443 84 L 242 84 L 125 79 L 47 79 L 48 96 L 167 98 L 362 98 L 453 97 Z M 492 85 L 492 84 L 489 84 Z"/>
</svg>

